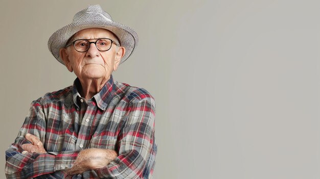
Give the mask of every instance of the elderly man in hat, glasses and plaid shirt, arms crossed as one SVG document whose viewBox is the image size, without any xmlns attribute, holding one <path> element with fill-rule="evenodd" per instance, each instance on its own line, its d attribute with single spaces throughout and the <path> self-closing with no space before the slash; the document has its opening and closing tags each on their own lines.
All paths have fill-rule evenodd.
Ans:
<svg viewBox="0 0 320 179">
<path fill-rule="evenodd" d="M 77 79 L 33 101 L 6 151 L 7 178 L 152 177 L 154 99 L 111 75 L 137 43 L 136 33 L 99 5 L 50 37 L 50 52 Z"/>
</svg>

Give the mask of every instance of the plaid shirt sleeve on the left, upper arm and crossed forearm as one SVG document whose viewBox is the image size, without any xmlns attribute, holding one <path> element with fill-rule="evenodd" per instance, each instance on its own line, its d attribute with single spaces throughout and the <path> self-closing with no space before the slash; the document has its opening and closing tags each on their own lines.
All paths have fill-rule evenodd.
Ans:
<svg viewBox="0 0 320 179">
<path fill-rule="evenodd" d="M 45 154 L 30 153 L 21 154 L 21 145 L 30 143 L 25 139 L 27 133 L 37 136 L 45 143 L 46 122 L 43 107 L 39 101 L 33 101 L 30 111 L 22 125 L 15 142 L 6 151 L 5 173 L 7 178 L 33 178 L 40 175 L 70 168 L 74 164 L 79 151 L 62 151 L 58 153 L 47 152 Z M 55 175 L 64 175 L 64 172 L 57 172 Z M 55 178 L 55 177 L 52 177 Z"/>
</svg>

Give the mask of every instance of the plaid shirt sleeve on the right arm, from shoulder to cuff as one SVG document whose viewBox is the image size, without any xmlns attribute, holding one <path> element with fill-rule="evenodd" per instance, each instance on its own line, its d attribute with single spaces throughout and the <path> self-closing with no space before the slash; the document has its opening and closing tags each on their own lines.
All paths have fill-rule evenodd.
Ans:
<svg viewBox="0 0 320 179">
<path fill-rule="evenodd" d="M 119 156 L 95 170 L 100 178 L 148 178 L 152 172 L 156 152 L 153 98 L 131 104 L 126 113 L 125 125 L 118 136 Z M 148 168 L 146 165 L 150 163 Z"/>
</svg>

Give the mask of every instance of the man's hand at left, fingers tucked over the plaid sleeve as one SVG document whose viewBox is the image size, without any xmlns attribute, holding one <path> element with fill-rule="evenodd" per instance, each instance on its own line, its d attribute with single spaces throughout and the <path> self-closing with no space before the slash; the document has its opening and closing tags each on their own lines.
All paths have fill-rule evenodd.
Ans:
<svg viewBox="0 0 320 179">
<path fill-rule="evenodd" d="M 24 149 L 22 151 L 22 154 L 26 154 L 27 152 L 33 152 L 33 153 L 39 153 L 39 154 L 44 154 L 45 149 L 43 147 L 42 142 L 40 141 L 39 138 L 32 134 L 26 134 L 26 139 L 31 142 L 31 144 L 22 144 L 21 148 Z"/>
</svg>

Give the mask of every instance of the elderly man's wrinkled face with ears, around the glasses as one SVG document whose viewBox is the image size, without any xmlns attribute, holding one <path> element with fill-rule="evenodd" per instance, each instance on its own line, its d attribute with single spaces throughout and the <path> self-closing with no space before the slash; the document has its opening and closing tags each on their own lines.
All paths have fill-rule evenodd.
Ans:
<svg viewBox="0 0 320 179">
<path fill-rule="evenodd" d="M 105 29 L 85 29 L 79 31 L 73 38 L 99 39 L 109 38 L 117 40 L 115 35 Z M 89 40 L 95 42 L 96 40 Z M 86 52 L 77 52 L 72 45 L 60 49 L 60 57 L 69 71 L 74 71 L 80 80 L 102 79 L 108 80 L 112 71 L 117 70 L 121 58 L 124 55 L 124 47 L 118 47 L 115 42 L 106 52 L 100 52 L 94 43 Z"/>
</svg>

